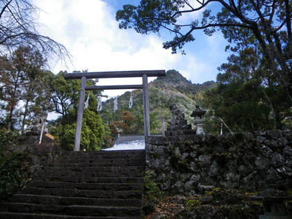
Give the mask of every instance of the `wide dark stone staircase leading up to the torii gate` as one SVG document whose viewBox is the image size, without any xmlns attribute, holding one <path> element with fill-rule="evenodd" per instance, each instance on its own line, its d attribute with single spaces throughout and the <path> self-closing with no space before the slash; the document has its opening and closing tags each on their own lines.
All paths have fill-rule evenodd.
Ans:
<svg viewBox="0 0 292 219">
<path fill-rule="evenodd" d="M 142 218 L 145 150 L 63 152 L 0 218 Z"/>
</svg>

